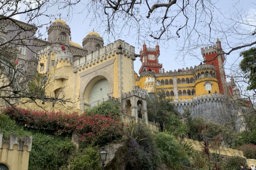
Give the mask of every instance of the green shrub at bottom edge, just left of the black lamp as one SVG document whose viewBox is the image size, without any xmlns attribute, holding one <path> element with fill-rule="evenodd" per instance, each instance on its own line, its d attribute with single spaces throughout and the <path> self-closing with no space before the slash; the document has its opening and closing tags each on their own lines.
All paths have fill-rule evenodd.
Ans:
<svg viewBox="0 0 256 170">
<path fill-rule="evenodd" d="M 99 151 L 97 146 L 88 146 L 83 151 L 77 152 L 70 160 L 70 170 L 98 170 L 100 166 Z"/>
</svg>

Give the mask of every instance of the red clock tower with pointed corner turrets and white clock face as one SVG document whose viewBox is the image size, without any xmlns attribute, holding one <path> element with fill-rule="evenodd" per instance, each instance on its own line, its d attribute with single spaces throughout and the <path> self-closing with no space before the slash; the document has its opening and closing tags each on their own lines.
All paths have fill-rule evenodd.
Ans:
<svg viewBox="0 0 256 170">
<path fill-rule="evenodd" d="M 153 71 L 154 73 L 161 73 L 162 64 L 158 63 L 158 57 L 160 55 L 158 43 L 155 48 L 147 48 L 145 42 L 143 43 L 143 50 L 140 49 L 140 61 L 142 65 L 139 70 L 139 74 L 144 71 Z"/>
</svg>

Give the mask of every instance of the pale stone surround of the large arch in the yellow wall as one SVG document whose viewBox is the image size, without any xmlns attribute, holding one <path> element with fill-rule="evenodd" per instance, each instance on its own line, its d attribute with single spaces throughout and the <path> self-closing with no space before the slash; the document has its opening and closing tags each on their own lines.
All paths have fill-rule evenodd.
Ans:
<svg viewBox="0 0 256 170">
<path fill-rule="evenodd" d="M 109 90 L 107 92 L 108 96 L 112 96 L 113 95 L 113 79 L 112 76 L 107 73 L 106 71 L 95 71 L 93 72 L 89 78 L 87 78 L 87 80 L 83 83 L 81 90 L 80 90 L 80 109 L 84 110 L 84 104 L 85 104 L 85 99 L 84 99 L 84 95 L 89 96 L 90 95 L 90 90 L 92 89 L 92 87 L 95 85 L 95 83 L 97 83 L 98 81 L 102 80 L 102 79 L 107 79 L 108 83 L 109 83 Z"/>
</svg>

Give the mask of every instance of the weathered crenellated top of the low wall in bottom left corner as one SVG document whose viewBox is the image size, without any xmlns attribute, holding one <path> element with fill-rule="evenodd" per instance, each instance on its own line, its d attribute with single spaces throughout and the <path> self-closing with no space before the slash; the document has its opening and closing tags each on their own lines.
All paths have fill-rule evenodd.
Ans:
<svg viewBox="0 0 256 170">
<path fill-rule="evenodd" d="M 21 150 L 30 152 L 32 148 L 32 136 L 23 136 L 18 138 L 17 134 L 8 135 L 3 139 L 3 133 L 0 132 L 0 149 Z"/>
</svg>

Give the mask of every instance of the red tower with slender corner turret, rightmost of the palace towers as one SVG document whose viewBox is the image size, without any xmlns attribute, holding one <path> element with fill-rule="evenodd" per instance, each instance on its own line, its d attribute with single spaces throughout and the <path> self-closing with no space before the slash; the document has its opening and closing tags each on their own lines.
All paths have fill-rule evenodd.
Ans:
<svg viewBox="0 0 256 170">
<path fill-rule="evenodd" d="M 212 64 L 216 68 L 216 76 L 220 93 L 227 94 L 227 81 L 224 71 L 225 56 L 221 48 L 221 41 L 219 38 L 217 38 L 216 45 L 214 45 L 214 47 L 201 48 L 201 53 L 203 55 L 203 59 L 206 61 L 206 64 Z"/>
</svg>

